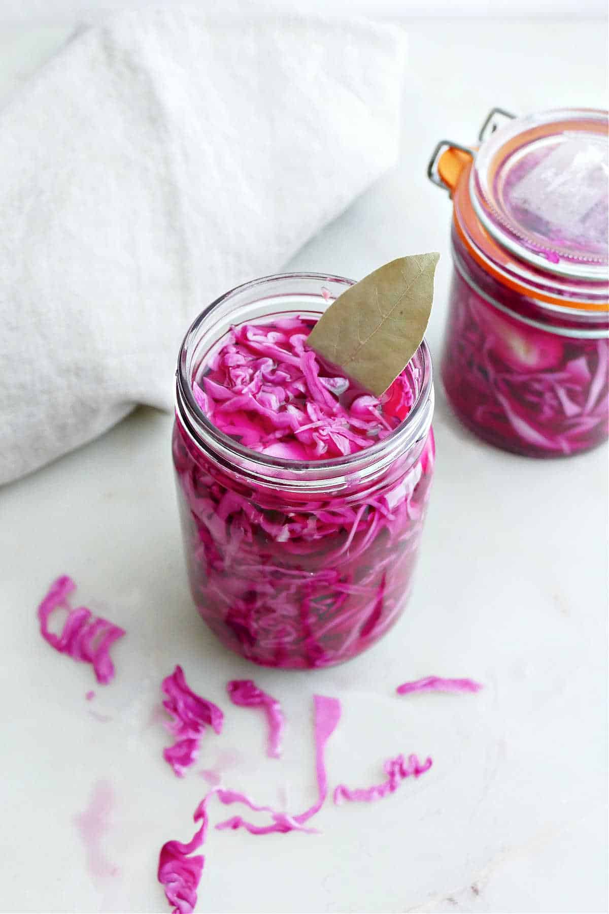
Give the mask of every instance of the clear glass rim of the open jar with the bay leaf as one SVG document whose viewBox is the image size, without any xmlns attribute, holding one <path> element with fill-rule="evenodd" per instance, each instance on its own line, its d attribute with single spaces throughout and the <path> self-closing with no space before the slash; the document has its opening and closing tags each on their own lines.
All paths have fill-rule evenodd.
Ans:
<svg viewBox="0 0 609 914">
<path fill-rule="evenodd" d="M 277 484 L 278 480 L 286 480 L 289 477 L 290 484 L 296 480 L 315 481 L 317 484 L 320 480 L 326 480 L 329 484 L 336 483 L 339 476 L 358 472 L 376 473 L 382 470 L 385 465 L 390 464 L 401 453 L 411 448 L 416 441 L 424 439 L 431 425 L 431 413 L 433 412 L 434 395 L 433 395 L 433 367 L 429 348 L 425 339 L 419 345 L 415 352 L 414 358 L 418 358 L 422 367 L 422 379 L 420 387 L 416 392 L 415 402 L 410 409 L 406 418 L 382 441 L 377 441 L 362 451 L 347 454 L 341 457 L 332 457 L 327 460 L 319 461 L 299 461 L 286 457 L 277 457 L 270 454 L 263 454 L 252 451 L 235 439 L 226 435 L 219 430 L 215 424 L 205 416 L 203 410 L 199 407 L 194 399 L 194 390 L 192 386 L 192 377 L 190 377 L 191 364 L 189 355 L 192 354 L 192 347 L 198 344 L 205 323 L 223 304 L 236 299 L 239 294 L 256 291 L 257 288 L 262 291 L 264 287 L 267 291 L 277 286 L 280 282 L 303 280 L 319 281 L 323 283 L 341 283 L 353 285 L 355 281 L 343 276 L 331 273 L 293 271 L 285 273 L 275 273 L 263 276 L 230 289 L 223 295 L 220 295 L 214 302 L 197 315 L 184 335 L 183 343 L 178 355 L 178 364 L 175 373 L 175 409 L 176 416 L 181 420 L 184 429 L 194 444 L 199 447 L 207 447 L 214 452 L 215 457 L 231 465 L 235 459 L 239 461 L 238 468 L 244 470 L 244 462 L 247 464 L 247 475 L 255 475 L 257 482 L 266 479 L 269 483 Z M 298 295 L 298 293 L 295 293 Z M 311 298 L 311 294 L 302 292 L 303 299 Z M 340 294 L 340 292 L 339 292 Z M 257 301 L 263 301 L 260 297 Z M 330 297 L 326 299 L 322 292 L 319 293 L 320 303 L 324 301 L 333 301 Z M 334 297 L 338 297 L 338 294 Z M 304 312 L 307 310 L 306 304 L 300 309 L 289 309 L 292 313 L 295 310 Z M 214 345 L 219 339 L 217 336 L 210 342 Z M 412 359 L 411 359 L 412 361 Z M 262 477 L 262 478 L 261 478 Z"/>
</svg>

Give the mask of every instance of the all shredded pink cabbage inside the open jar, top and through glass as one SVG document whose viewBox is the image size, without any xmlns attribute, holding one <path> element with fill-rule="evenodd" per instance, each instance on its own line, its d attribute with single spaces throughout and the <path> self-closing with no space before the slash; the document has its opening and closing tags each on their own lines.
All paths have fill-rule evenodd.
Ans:
<svg viewBox="0 0 609 914">
<path fill-rule="evenodd" d="M 298 317 L 236 328 L 204 362 L 194 395 L 250 450 L 315 461 L 361 451 L 408 414 L 420 387 L 411 362 L 383 398 L 333 377 Z M 173 432 L 188 571 L 199 613 L 226 647 L 284 668 L 360 654 L 404 610 L 434 468 L 434 438 L 373 484 L 340 494 L 286 494 L 247 482 Z"/>
</svg>

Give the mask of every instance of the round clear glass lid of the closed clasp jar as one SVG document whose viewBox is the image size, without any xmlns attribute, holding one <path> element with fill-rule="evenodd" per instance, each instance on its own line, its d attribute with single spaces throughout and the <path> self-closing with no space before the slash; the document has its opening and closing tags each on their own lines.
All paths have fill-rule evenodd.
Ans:
<svg viewBox="0 0 609 914">
<path fill-rule="evenodd" d="M 562 276 L 608 276 L 607 112 L 544 112 L 482 143 L 469 193 L 488 233 L 520 260 Z"/>
</svg>

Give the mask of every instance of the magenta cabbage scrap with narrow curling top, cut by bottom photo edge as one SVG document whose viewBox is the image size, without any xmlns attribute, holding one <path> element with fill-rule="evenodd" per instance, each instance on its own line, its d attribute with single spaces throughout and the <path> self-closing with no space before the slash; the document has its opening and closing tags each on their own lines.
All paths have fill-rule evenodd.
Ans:
<svg viewBox="0 0 609 914">
<path fill-rule="evenodd" d="M 194 811 L 194 822 L 201 825 L 188 844 L 168 841 L 161 848 L 157 877 L 165 890 L 165 897 L 173 905 L 173 914 L 192 914 L 196 904 L 196 889 L 205 866 L 202 855 L 189 856 L 205 842 L 208 816 L 207 794 Z"/>
</svg>

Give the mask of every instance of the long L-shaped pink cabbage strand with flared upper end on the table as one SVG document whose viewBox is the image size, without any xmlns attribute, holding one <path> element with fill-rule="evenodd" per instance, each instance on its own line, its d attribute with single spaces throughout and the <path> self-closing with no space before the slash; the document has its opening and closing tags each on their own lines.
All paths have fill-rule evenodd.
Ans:
<svg viewBox="0 0 609 914">
<path fill-rule="evenodd" d="M 266 806 L 251 806 L 251 809 L 264 810 L 271 813 L 272 822 L 268 825 L 255 825 L 248 823 L 241 816 L 234 816 L 221 822 L 215 827 L 218 830 L 226 828 L 245 828 L 250 834 L 271 834 L 272 832 L 292 832 L 292 831 L 310 831 L 305 824 L 316 814 L 319 813 L 323 803 L 328 796 L 328 774 L 326 771 L 325 750 L 328 740 L 336 729 L 341 719 L 341 702 L 338 698 L 328 696 L 313 696 L 313 707 L 315 714 L 314 733 L 315 733 L 315 771 L 317 775 L 318 800 L 310 806 L 310 809 L 299 815 L 289 816 L 287 813 L 277 813 Z M 237 795 L 236 795 L 237 796 Z M 226 802 L 223 800 L 223 802 Z M 231 802 L 236 802 L 233 800 Z M 244 802 L 241 800 L 241 802 Z M 249 803 L 248 803 L 249 805 Z"/>
</svg>

